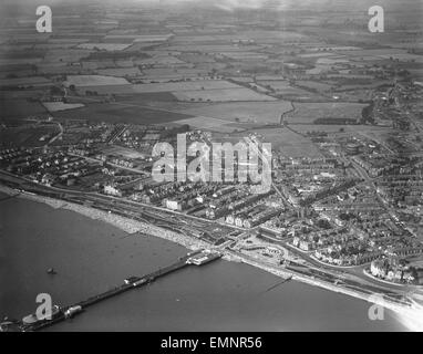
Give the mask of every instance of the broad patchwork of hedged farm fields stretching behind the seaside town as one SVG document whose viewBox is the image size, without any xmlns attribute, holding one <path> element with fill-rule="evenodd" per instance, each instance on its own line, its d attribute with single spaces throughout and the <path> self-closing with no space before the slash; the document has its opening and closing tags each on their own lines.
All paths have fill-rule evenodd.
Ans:
<svg viewBox="0 0 423 354">
<path fill-rule="evenodd" d="M 229 12 L 187 23 L 154 7 L 106 8 L 117 12 L 59 14 L 53 35 L 34 34 L 25 17 L 4 24 L 2 117 L 43 116 L 47 107 L 54 117 L 239 132 L 278 125 L 287 113 L 287 124 L 323 128 L 316 119 L 359 119 L 359 102 L 391 84 L 391 66 L 421 71 L 421 53 L 411 50 L 419 43 L 401 31 L 390 41 L 381 35 L 382 46 L 360 25 L 338 29 L 336 38 L 310 13 L 281 23 L 275 11 L 246 25 Z M 52 86 L 71 85 L 65 100 L 49 97 Z"/>
</svg>

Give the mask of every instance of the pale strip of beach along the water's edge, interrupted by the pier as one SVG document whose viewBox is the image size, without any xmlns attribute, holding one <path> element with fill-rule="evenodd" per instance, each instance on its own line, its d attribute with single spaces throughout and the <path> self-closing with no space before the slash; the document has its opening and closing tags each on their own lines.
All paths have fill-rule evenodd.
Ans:
<svg viewBox="0 0 423 354">
<path fill-rule="evenodd" d="M 143 221 L 136 221 L 136 220 L 121 217 L 121 216 L 117 216 L 114 214 L 109 214 L 106 211 L 99 210 L 95 208 L 90 208 L 86 206 L 81 206 L 78 204 L 73 204 L 73 202 L 69 202 L 69 201 L 64 201 L 64 200 L 60 200 L 60 199 L 54 199 L 54 198 L 50 198 L 50 197 L 39 196 L 35 194 L 30 194 L 30 192 L 25 192 L 25 191 L 17 191 L 16 189 L 9 188 L 9 187 L 1 185 L 1 184 L 0 184 L 0 192 L 3 192 L 8 196 L 16 196 L 16 196 L 17 198 L 22 198 L 22 199 L 27 199 L 27 200 L 31 200 L 31 201 L 35 201 L 35 202 L 42 202 L 42 204 L 49 205 L 50 207 L 52 207 L 54 209 L 74 211 L 74 212 L 78 212 L 78 214 L 80 214 L 84 217 L 87 217 L 90 219 L 104 221 L 104 222 L 106 222 L 113 227 L 116 227 L 116 228 L 118 228 L 118 229 L 121 229 L 121 230 L 123 230 L 130 235 L 137 233 L 141 237 L 153 236 L 153 237 L 162 238 L 162 239 L 165 239 L 167 241 L 183 246 L 190 251 L 197 250 L 199 248 L 210 248 L 209 243 L 206 243 L 199 239 L 195 240 L 190 237 L 187 237 L 187 236 L 174 232 L 174 231 L 169 231 L 169 230 L 156 227 L 154 225 L 148 225 L 148 223 L 145 223 Z M 229 262 L 246 263 L 250 267 L 261 269 L 268 273 L 271 273 L 276 277 L 283 278 L 283 279 L 287 279 L 288 277 L 292 275 L 292 280 L 296 280 L 298 282 L 306 283 L 308 285 L 318 287 L 320 289 L 341 293 L 344 295 L 349 295 L 349 296 L 352 296 L 354 299 L 360 299 L 360 300 L 363 300 L 363 301 L 369 302 L 369 303 L 376 303 L 379 305 L 384 306 L 385 309 L 389 309 L 389 310 L 398 313 L 399 315 L 409 315 L 410 316 L 410 311 L 412 310 L 412 308 L 401 305 L 401 304 L 388 301 L 385 299 L 375 299 L 375 296 L 373 294 L 365 294 L 363 292 L 354 291 L 352 289 L 337 287 L 330 282 L 310 279 L 310 278 L 305 277 L 305 275 L 292 273 L 292 272 L 287 271 L 285 269 L 280 269 L 280 270 L 275 269 L 274 267 L 262 264 L 258 261 L 255 261 L 252 259 L 245 258 L 245 257 L 241 257 L 238 254 L 234 254 L 234 253 L 229 254 L 228 252 L 224 252 L 223 259 L 226 261 L 229 261 Z"/>
</svg>

